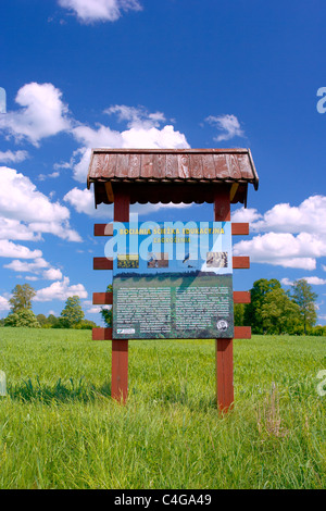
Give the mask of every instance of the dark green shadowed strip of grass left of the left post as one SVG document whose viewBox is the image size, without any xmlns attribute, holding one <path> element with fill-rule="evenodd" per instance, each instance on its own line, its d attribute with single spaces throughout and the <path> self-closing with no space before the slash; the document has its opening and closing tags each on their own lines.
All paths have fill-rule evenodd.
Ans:
<svg viewBox="0 0 326 511">
<path fill-rule="evenodd" d="M 91 402 L 101 397 L 111 396 L 111 383 L 105 382 L 100 387 L 86 383 L 84 378 L 74 381 L 70 378 L 66 383 L 59 378 L 53 385 L 40 384 L 39 378 L 36 382 L 23 379 L 21 384 L 9 385 L 8 395 L 11 399 L 32 402 L 39 401 L 45 404 L 54 402 Z"/>
</svg>

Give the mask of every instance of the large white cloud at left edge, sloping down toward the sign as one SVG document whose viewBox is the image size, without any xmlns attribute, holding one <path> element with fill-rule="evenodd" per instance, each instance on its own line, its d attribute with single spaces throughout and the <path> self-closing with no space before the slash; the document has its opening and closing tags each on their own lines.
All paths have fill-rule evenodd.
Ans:
<svg viewBox="0 0 326 511">
<path fill-rule="evenodd" d="M 40 239 L 50 233 L 68 241 L 82 238 L 70 226 L 70 210 L 37 190 L 14 169 L 0 167 L 0 238 Z"/>
</svg>

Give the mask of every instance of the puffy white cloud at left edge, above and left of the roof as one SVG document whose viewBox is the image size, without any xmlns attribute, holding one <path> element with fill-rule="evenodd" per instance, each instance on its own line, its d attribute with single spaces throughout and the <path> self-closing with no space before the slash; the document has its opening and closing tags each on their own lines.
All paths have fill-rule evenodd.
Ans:
<svg viewBox="0 0 326 511">
<path fill-rule="evenodd" d="M 0 116 L 0 132 L 39 146 L 42 138 L 67 130 L 68 109 L 61 98 L 62 92 L 52 84 L 24 85 L 15 98 L 21 110 Z"/>
</svg>

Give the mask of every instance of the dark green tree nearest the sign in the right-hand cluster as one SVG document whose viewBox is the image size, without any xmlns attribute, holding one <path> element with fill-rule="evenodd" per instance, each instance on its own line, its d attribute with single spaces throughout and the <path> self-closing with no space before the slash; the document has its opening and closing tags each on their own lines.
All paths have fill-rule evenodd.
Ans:
<svg viewBox="0 0 326 511">
<path fill-rule="evenodd" d="M 251 326 L 253 334 L 264 333 L 264 319 L 261 315 L 261 309 L 266 296 L 274 289 L 281 289 L 281 285 L 276 278 L 271 281 L 260 278 L 253 283 L 250 290 L 251 302 L 246 306 L 243 314 L 243 324 Z"/>
</svg>

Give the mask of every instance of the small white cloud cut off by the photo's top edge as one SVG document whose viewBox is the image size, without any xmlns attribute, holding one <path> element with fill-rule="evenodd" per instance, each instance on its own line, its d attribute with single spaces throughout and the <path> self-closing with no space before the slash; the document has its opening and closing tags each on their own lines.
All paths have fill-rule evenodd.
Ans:
<svg viewBox="0 0 326 511">
<path fill-rule="evenodd" d="M 62 8 L 72 11 L 82 23 L 115 22 L 122 11 L 140 11 L 138 0 L 59 0 Z"/>
</svg>

